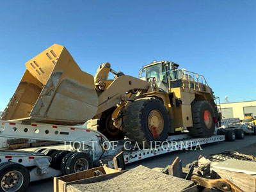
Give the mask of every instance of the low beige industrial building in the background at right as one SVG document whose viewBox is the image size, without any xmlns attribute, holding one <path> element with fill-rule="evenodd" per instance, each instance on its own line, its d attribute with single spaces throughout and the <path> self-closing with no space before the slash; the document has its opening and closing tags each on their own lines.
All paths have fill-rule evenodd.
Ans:
<svg viewBox="0 0 256 192">
<path fill-rule="evenodd" d="M 256 116 L 256 100 L 242 101 L 242 102 L 226 102 L 218 105 L 221 110 L 222 118 L 238 117 L 243 119 L 246 114 L 252 113 Z"/>
</svg>

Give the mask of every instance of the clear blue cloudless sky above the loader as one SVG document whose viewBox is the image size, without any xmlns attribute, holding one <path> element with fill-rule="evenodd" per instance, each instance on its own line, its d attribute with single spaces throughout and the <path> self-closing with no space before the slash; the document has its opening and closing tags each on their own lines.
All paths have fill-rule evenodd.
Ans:
<svg viewBox="0 0 256 192">
<path fill-rule="evenodd" d="M 0 2 L 0 111 L 26 61 L 52 44 L 92 75 L 107 61 L 135 77 L 153 60 L 174 61 L 204 75 L 221 102 L 256 100 L 256 1 Z"/>
</svg>

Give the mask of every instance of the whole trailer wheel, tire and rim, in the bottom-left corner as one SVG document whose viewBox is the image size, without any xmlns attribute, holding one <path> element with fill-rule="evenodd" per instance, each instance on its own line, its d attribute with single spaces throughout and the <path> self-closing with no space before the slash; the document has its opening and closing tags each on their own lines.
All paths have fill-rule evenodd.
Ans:
<svg viewBox="0 0 256 192">
<path fill-rule="evenodd" d="M 0 166 L 1 192 L 24 192 L 28 188 L 30 175 L 25 166 L 8 162 Z"/>
</svg>

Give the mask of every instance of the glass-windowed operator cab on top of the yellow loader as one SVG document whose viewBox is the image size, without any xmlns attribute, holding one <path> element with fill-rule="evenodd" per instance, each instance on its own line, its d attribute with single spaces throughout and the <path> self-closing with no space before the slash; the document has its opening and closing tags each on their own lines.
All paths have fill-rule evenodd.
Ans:
<svg viewBox="0 0 256 192">
<path fill-rule="evenodd" d="M 178 67 L 179 65 L 172 61 L 153 61 L 141 68 L 139 76 L 140 79 L 145 81 L 155 81 L 159 87 L 159 92 L 168 93 L 168 81 L 179 79 L 177 77 L 177 71 L 173 71 Z M 145 77 L 141 77 L 141 72 L 145 72 Z"/>
</svg>

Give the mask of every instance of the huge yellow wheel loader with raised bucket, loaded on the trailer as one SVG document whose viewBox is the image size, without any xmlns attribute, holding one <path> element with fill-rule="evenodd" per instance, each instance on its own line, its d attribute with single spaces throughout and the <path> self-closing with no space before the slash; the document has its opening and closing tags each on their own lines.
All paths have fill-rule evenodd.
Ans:
<svg viewBox="0 0 256 192">
<path fill-rule="evenodd" d="M 210 137 L 218 115 L 212 89 L 204 76 L 178 67 L 154 61 L 136 78 L 103 63 L 93 77 L 54 44 L 26 63 L 1 120 L 60 125 L 90 120 L 109 140 L 127 136 L 144 146 L 163 142 L 179 127 L 191 136 Z M 115 79 L 108 79 L 109 73 Z"/>
</svg>

